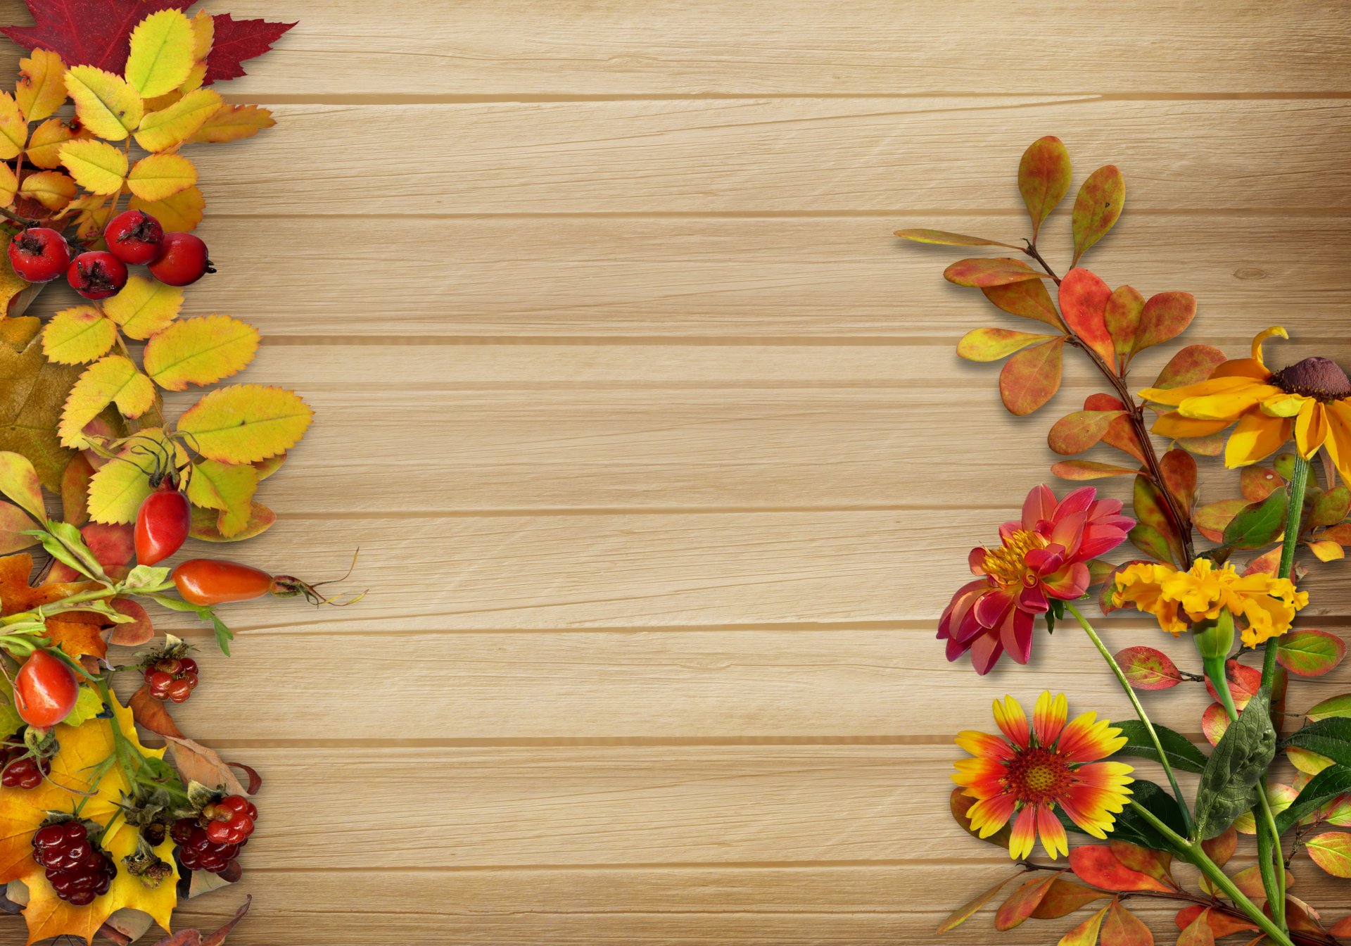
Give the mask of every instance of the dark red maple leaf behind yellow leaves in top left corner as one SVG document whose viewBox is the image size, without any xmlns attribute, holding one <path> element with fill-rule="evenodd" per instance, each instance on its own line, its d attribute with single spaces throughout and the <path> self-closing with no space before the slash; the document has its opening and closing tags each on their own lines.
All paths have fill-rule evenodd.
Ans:
<svg viewBox="0 0 1351 946">
<path fill-rule="evenodd" d="M 50 49 L 68 66 L 91 65 L 120 74 L 127 65 L 136 23 L 161 9 L 186 11 L 196 0 L 24 0 L 31 27 L 7 26 L 0 32 L 24 49 Z M 295 23 L 235 20 L 216 14 L 216 42 L 207 57 L 207 82 L 245 74 L 245 59 L 262 55 Z"/>
</svg>

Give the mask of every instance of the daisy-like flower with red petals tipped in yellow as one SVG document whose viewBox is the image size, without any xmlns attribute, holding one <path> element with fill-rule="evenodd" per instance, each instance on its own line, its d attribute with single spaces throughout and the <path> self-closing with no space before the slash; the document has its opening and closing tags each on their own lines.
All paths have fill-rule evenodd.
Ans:
<svg viewBox="0 0 1351 946">
<path fill-rule="evenodd" d="M 1009 855 L 1021 860 L 1032 853 L 1038 837 L 1055 860 L 1069 854 L 1059 807 L 1071 822 L 1105 838 L 1125 808 L 1133 769 L 1121 762 L 1102 762 L 1125 745 L 1121 730 L 1097 714 L 1086 712 L 1066 723 L 1069 704 L 1063 695 L 1047 691 L 1036 700 L 1032 724 L 1012 696 L 994 700 L 994 722 L 1004 738 L 986 732 L 961 732 L 957 745 L 973 758 L 957 762 L 952 781 L 975 799 L 967 811 L 971 830 L 988 838 L 1011 820 Z"/>
</svg>

